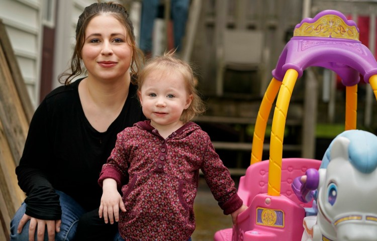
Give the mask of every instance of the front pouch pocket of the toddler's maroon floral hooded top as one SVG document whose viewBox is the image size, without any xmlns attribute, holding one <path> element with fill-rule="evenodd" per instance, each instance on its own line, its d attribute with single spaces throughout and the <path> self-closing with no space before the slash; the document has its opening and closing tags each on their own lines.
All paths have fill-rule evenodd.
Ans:
<svg viewBox="0 0 377 241">
<path fill-rule="evenodd" d="M 135 175 L 122 188 L 127 218 L 186 223 L 192 208 L 183 194 L 185 186 L 185 182 L 163 173 Z"/>
</svg>

